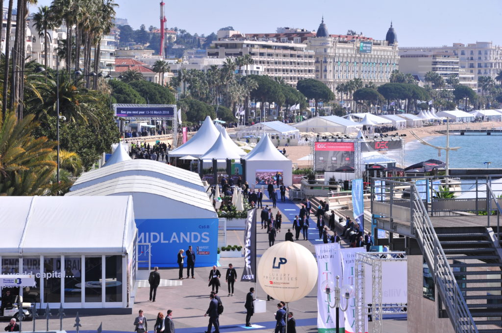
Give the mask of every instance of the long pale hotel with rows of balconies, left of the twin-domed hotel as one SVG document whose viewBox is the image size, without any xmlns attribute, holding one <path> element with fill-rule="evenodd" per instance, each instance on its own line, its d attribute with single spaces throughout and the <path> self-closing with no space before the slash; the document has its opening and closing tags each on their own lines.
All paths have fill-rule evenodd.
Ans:
<svg viewBox="0 0 502 333">
<path fill-rule="evenodd" d="M 292 87 L 298 80 L 314 78 L 314 52 L 307 50 L 307 45 L 290 40 L 281 42 L 277 37 L 249 36 L 237 31 L 218 31 L 219 38 L 211 43 L 207 55 L 225 59 L 248 54 L 254 60 L 256 71 L 274 79 L 282 78 Z M 245 71 L 241 68 L 242 74 L 246 74 Z"/>
</svg>

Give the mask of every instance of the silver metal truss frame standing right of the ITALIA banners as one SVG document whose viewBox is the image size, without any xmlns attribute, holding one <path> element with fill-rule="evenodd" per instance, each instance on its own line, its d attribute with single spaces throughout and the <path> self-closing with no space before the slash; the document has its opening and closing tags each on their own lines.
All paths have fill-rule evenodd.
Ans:
<svg viewBox="0 0 502 333">
<path fill-rule="evenodd" d="M 366 332 L 364 316 L 368 313 L 373 318 L 373 333 L 383 333 L 382 316 L 384 313 L 404 313 L 403 304 L 382 303 L 382 262 L 408 260 L 405 252 L 359 252 L 355 258 L 355 329 Z M 365 302 L 364 272 L 371 267 L 371 304 Z M 385 307 L 385 310 L 384 310 Z M 366 311 L 367 310 L 367 311 Z"/>
</svg>

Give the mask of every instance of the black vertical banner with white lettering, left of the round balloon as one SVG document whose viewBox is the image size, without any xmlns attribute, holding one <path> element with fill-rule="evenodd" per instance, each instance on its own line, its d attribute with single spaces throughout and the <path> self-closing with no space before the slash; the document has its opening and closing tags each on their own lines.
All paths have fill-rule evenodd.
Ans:
<svg viewBox="0 0 502 333">
<path fill-rule="evenodd" d="M 247 211 L 244 226 L 244 271 L 241 282 L 256 282 L 256 210 Z"/>
</svg>

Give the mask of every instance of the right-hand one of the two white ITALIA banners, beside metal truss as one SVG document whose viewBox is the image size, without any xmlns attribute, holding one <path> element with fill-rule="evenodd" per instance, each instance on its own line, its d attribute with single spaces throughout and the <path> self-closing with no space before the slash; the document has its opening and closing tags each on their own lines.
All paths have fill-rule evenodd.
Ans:
<svg viewBox="0 0 502 333">
<path fill-rule="evenodd" d="M 357 252 L 366 252 L 365 247 L 345 248 L 341 252 L 342 281 L 341 285 L 351 285 L 355 288 L 355 256 Z M 364 316 L 364 327 L 368 326 L 368 316 Z M 355 331 L 355 297 L 349 299 L 347 310 L 345 311 L 345 333 L 366 333 Z"/>
</svg>

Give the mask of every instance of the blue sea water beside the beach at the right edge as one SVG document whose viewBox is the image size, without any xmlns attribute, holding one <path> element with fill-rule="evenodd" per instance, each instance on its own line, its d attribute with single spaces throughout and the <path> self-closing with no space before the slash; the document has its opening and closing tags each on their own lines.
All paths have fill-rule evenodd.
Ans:
<svg viewBox="0 0 502 333">
<path fill-rule="evenodd" d="M 425 141 L 446 147 L 446 136 L 424 138 Z M 502 168 L 502 135 L 450 135 L 450 147 L 461 147 L 450 151 L 450 168 L 486 168 L 484 162 L 491 162 L 489 168 Z M 445 162 L 446 152 L 426 146 L 419 141 L 406 144 L 406 166 L 436 159 Z"/>
</svg>

